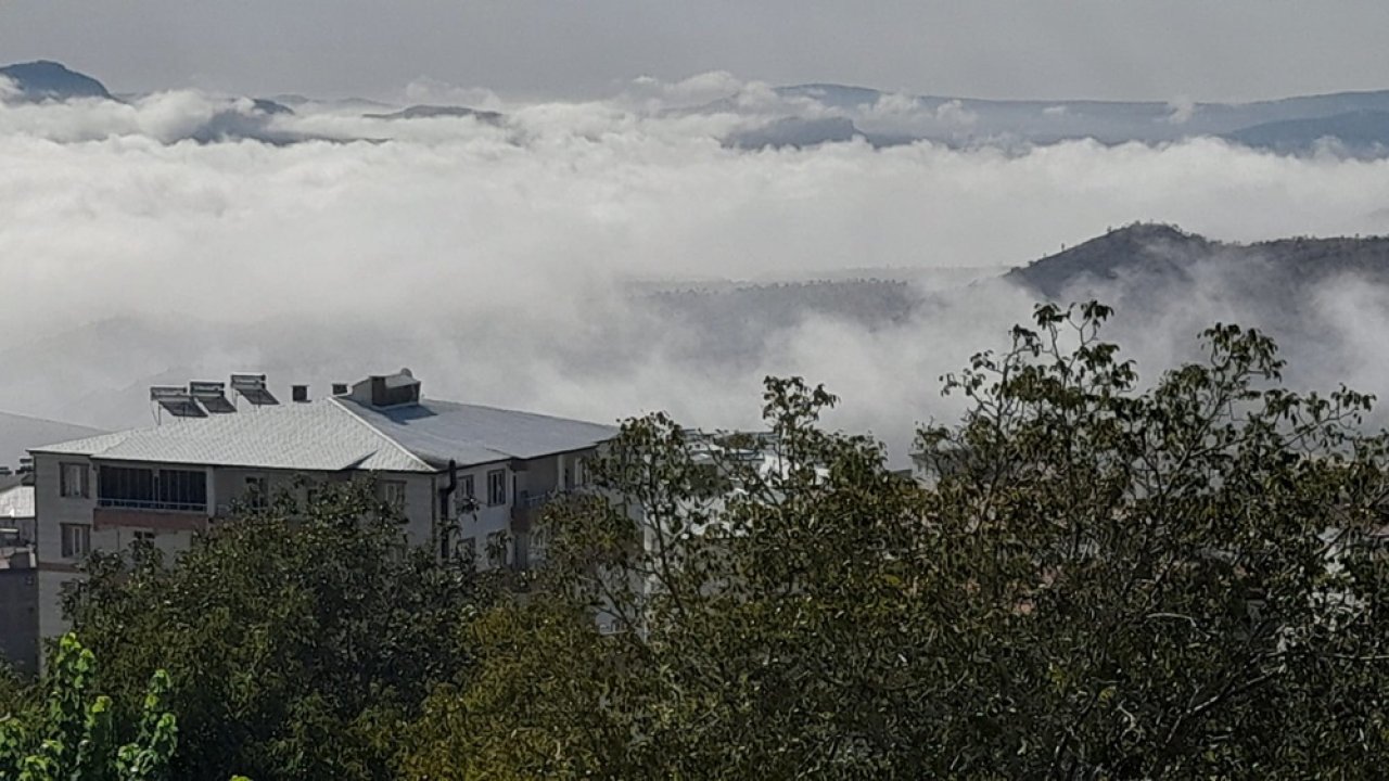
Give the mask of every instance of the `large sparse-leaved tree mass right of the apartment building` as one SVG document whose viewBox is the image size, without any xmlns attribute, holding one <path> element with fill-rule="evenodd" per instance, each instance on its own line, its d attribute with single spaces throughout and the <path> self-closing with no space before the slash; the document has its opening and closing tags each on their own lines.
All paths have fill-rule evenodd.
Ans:
<svg viewBox="0 0 1389 781">
<path fill-rule="evenodd" d="M 1389 570 L 1371 399 L 1281 386 L 1218 325 L 1151 385 L 1039 307 L 946 378 L 931 488 L 768 381 L 742 457 L 657 414 L 547 514 L 550 566 L 465 634 L 414 778 L 1375 777 Z M 594 617 L 626 631 L 604 635 Z M 557 663 L 560 660 L 560 663 Z"/>
</svg>

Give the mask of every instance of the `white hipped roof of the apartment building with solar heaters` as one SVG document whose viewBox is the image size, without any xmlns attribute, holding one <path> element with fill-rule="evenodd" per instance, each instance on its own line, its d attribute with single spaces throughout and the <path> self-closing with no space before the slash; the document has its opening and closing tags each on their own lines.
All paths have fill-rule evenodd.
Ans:
<svg viewBox="0 0 1389 781">
<path fill-rule="evenodd" d="M 257 407 L 76 439 L 35 453 L 301 471 L 435 472 L 593 447 L 611 427 L 444 402 L 376 410 L 346 399 Z"/>
</svg>

